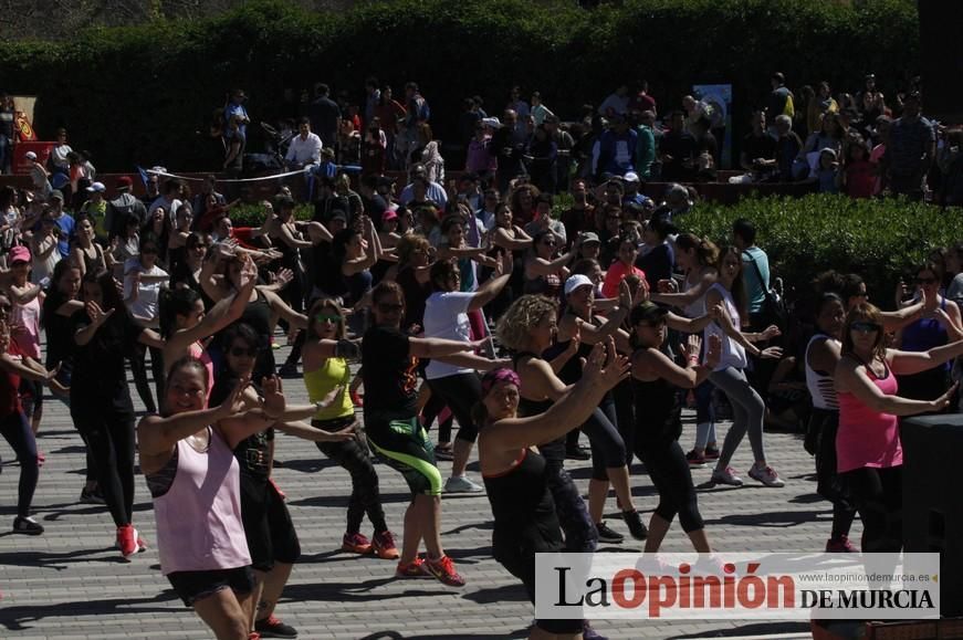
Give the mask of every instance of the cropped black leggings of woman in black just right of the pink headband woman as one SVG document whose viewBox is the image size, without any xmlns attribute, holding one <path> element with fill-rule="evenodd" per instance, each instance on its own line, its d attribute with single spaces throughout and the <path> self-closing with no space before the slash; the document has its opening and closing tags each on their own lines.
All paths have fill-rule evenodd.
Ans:
<svg viewBox="0 0 963 640">
<path fill-rule="evenodd" d="M 679 441 L 645 442 L 637 439 L 636 455 L 646 465 L 646 471 L 659 492 L 656 515 L 666 522 L 672 522 L 676 514 L 679 514 L 679 524 L 687 534 L 705 528 L 702 514 L 699 513 L 692 472 Z"/>
</svg>

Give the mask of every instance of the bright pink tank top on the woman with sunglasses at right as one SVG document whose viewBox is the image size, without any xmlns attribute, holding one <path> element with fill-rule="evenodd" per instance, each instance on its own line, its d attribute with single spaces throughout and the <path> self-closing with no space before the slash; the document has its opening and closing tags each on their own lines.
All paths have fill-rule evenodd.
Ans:
<svg viewBox="0 0 963 640">
<path fill-rule="evenodd" d="M 868 366 L 866 375 L 887 396 L 897 395 L 897 379 L 889 366 L 886 377 L 877 378 Z M 836 469 L 839 473 L 863 466 L 889 468 L 903 463 L 899 419 L 878 413 L 852 394 L 840 391 L 839 431 L 836 433 Z"/>
</svg>

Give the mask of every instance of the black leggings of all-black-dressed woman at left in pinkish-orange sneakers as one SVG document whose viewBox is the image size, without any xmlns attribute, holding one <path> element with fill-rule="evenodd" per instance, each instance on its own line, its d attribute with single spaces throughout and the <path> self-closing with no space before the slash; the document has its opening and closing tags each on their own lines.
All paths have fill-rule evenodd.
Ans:
<svg viewBox="0 0 963 640">
<path fill-rule="evenodd" d="M 76 400 L 76 398 L 74 398 Z M 87 444 L 114 524 L 130 524 L 134 513 L 134 413 L 106 401 L 85 409 L 71 403 L 71 418 Z"/>
</svg>

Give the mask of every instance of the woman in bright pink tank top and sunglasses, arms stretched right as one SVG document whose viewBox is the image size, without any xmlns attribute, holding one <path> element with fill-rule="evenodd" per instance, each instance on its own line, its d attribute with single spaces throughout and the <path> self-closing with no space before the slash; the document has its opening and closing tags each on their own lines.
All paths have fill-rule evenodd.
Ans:
<svg viewBox="0 0 963 640">
<path fill-rule="evenodd" d="M 862 521 L 863 552 L 902 548 L 902 462 L 899 417 L 940 411 L 955 386 L 935 400 L 897 396 L 896 375 L 917 374 L 963 354 L 963 340 L 928 352 L 886 348 L 883 317 L 869 303 L 856 305 L 842 328 L 836 366 L 839 430 L 836 459 Z"/>
</svg>

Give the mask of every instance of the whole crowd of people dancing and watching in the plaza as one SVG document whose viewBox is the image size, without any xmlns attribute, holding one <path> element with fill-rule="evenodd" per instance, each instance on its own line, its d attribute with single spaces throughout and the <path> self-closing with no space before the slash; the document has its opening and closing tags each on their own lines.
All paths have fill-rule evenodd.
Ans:
<svg viewBox="0 0 963 640">
<path fill-rule="evenodd" d="M 778 102 L 760 114 L 777 111 L 781 128 L 792 94 L 778 81 Z M 781 326 L 751 221 L 736 221 L 729 238 L 699 238 L 685 231 L 689 189 L 673 186 L 662 202 L 640 195 L 656 166 L 637 153 L 645 147 L 637 129 L 650 125 L 632 114 L 656 114 L 645 91 L 620 87 L 592 109 L 589 119 L 604 116 L 610 128 L 593 168 L 571 179 L 533 155 L 540 144 L 556 153 L 564 133 L 541 96 L 528 104 L 513 92 L 503 122 L 472 101 L 467 154 L 479 164 L 446 181 L 417 85 L 406 87 L 406 104 L 377 83 L 368 90 L 366 107 L 345 114 L 322 85 L 300 124 L 304 145 L 289 159 L 310 169 L 311 220 L 297 219 L 299 202 L 280 185 L 261 203 L 260 227 L 234 227 L 214 176 L 191 193 L 187 181 L 155 174 L 139 199 L 130 179 L 107 193 L 95 175 L 71 177 L 70 162 L 67 174 L 35 162 L 35 189 L 0 191 L 0 428 L 20 464 L 14 533 L 43 533 L 31 503 L 45 385 L 70 407 L 86 448 L 80 501 L 106 505 L 124 558 L 146 550 L 133 522 L 139 460 L 161 570 L 218 638 L 296 637 L 274 612 L 300 556 L 271 478 L 275 430 L 315 442 L 348 472 L 342 548 L 397 560 L 399 579 L 452 587 L 471 579 L 442 544 L 442 497 L 452 493 L 486 493 L 492 554 L 531 599 L 535 553 L 625 541 L 621 525 L 604 520 L 610 489 L 625 531 L 645 541 L 646 553 L 658 552 L 677 516 L 693 549 L 711 553 L 692 470 L 711 465 L 711 484 L 742 485 L 731 461 L 747 434 L 746 475 L 784 486 L 778 461 L 766 455 L 766 426 L 806 432 L 818 491 L 834 505 L 827 550 L 855 550 L 857 514 L 862 549 L 901 547 L 898 418 L 949 410 L 955 400 L 963 245 L 918 265 L 889 312 L 868 302 L 858 275 L 814 274 L 800 283 L 812 298 L 808 331 Z M 883 157 L 900 148 L 893 141 L 904 134 L 896 130 L 920 122 L 914 101 L 902 99 Z M 226 117 L 232 162 L 243 157 L 242 102 L 242 92 L 232 94 Z M 699 101 L 683 105 L 690 117 L 680 126 L 705 128 L 704 114 L 691 117 Z M 881 96 L 859 105 L 887 108 Z M 824 111 L 814 123 L 839 113 Z M 398 122 L 392 136 L 421 145 L 407 155 L 401 189 L 384 175 L 386 150 L 398 143 L 388 146 L 381 116 Z M 354 130 L 367 127 L 377 140 L 380 160 L 360 158 L 355 181 L 315 170 L 332 147 L 328 161 L 345 161 L 336 136 L 355 120 Z M 765 130 L 762 117 L 754 124 Z M 692 137 L 673 127 L 660 134 L 658 151 L 646 147 L 646 158 L 661 158 L 662 176 L 673 161 L 697 171 L 711 165 L 668 153 L 678 135 Z M 923 145 L 915 160 L 932 159 L 930 150 Z M 766 157 L 751 159 L 755 171 Z M 925 171 L 910 185 L 892 169 L 899 161 L 883 164 L 883 188 L 922 190 Z M 59 188 L 54 174 L 66 178 L 55 179 Z M 574 202 L 556 218 L 562 183 Z M 293 344 L 280 367 L 279 329 Z M 127 363 L 147 408 L 139 422 Z M 303 406 L 284 394 L 299 378 L 311 400 Z M 691 449 L 680 443 L 687 405 L 697 412 Z M 720 443 L 725 412 L 732 424 Z M 465 471 L 473 452 L 480 482 Z M 631 473 L 636 458 L 658 493 L 648 523 L 632 495 L 647 482 Z M 587 500 L 565 470 L 573 459 L 592 461 Z M 439 461 L 451 462 L 447 480 Z M 379 473 L 392 472 L 411 492 L 392 524 L 400 545 L 379 494 Z M 531 637 L 600 636 L 583 620 L 536 620 Z"/>
</svg>

